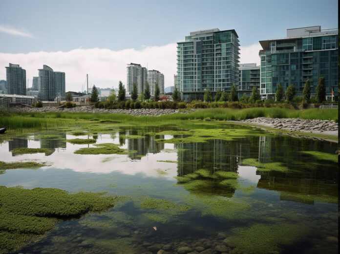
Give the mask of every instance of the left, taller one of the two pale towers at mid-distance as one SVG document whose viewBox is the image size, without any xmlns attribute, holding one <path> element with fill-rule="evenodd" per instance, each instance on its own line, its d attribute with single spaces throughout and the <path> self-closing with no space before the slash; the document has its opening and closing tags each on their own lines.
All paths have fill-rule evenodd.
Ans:
<svg viewBox="0 0 340 254">
<path fill-rule="evenodd" d="M 144 92 L 147 76 L 147 68 L 137 63 L 127 64 L 127 93 L 132 92 L 133 84 L 137 85 L 138 94 Z"/>
</svg>

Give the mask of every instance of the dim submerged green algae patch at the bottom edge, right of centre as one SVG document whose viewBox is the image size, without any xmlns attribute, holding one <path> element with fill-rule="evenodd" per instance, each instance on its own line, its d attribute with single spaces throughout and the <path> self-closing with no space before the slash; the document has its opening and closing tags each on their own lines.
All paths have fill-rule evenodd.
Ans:
<svg viewBox="0 0 340 254">
<path fill-rule="evenodd" d="M 307 232 L 301 224 L 257 223 L 247 228 L 234 228 L 233 236 L 224 241 L 242 254 L 279 254 L 284 247 L 302 240 Z"/>
</svg>

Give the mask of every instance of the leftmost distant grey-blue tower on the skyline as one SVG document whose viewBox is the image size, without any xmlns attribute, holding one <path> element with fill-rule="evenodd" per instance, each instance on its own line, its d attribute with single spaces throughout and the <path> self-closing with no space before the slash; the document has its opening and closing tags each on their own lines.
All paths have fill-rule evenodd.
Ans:
<svg viewBox="0 0 340 254">
<path fill-rule="evenodd" d="M 9 63 L 6 67 L 7 93 L 26 95 L 26 70 L 19 64 Z"/>
</svg>

